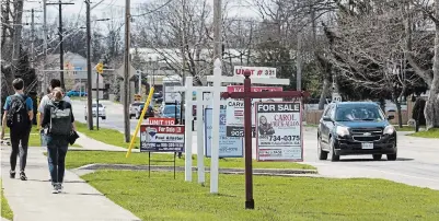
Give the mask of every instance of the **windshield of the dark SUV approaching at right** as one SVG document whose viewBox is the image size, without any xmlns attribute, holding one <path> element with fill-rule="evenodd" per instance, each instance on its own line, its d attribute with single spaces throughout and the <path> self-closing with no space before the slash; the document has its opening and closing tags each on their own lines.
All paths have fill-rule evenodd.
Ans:
<svg viewBox="0 0 439 221">
<path fill-rule="evenodd" d="M 336 121 L 382 121 L 384 119 L 378 106 L 342 106 L 336 111 Z"/>
</svg>

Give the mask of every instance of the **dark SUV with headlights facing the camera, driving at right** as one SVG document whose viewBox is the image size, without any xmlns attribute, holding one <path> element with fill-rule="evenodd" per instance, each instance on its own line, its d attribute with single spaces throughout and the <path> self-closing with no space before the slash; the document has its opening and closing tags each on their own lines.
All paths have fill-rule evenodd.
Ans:
<svg viewBox="0 0 439 221">
<path fill-rule="evenodd" d="M 396 130 L 388 121 L 380 106 L 372 102 L 342 102 L 330 104 L 317 129 L 317 154 L 320 160 L 331 155 L 339 161 L 340 155 L 371 154 L 381 160 L 396 160 Z"/>
</svg>

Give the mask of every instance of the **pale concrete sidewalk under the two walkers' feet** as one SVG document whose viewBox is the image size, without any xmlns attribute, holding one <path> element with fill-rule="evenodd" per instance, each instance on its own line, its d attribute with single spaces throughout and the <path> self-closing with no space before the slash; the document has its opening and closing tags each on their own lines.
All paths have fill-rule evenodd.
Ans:
<svg viewBox="0 0 439 221">
<path fill-rule="evenodd" d="M 10 147 L 1 147 L 1 176 L 14 221 L 140 220 L 69 171 L 66 171 L 65 193 L 51 194 L 47 158 L 39 148 L 28 149 L 28 181 L 22 182 L 18 175 L 11 179 L 10 150 Z"/>
</svg>

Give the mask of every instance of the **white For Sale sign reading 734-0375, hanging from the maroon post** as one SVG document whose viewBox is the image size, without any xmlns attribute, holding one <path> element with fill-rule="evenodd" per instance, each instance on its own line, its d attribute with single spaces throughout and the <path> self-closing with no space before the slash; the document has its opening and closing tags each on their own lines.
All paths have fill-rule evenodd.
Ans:
<svg viewBox="0 0 439 221">
<path fill-rule="evenodd" d="M 258 161 L 303 161 L 300 103 L 256 103 Z"/>
</svg>

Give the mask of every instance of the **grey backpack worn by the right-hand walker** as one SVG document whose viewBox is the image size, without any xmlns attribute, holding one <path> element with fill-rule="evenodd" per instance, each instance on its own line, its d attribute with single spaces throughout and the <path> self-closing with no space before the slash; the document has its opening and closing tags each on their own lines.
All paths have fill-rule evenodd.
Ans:
<svg viewBox="0 0 439 221">
<path fill-rule="evenodd" d="M 72 131 L 71 108 L 66 108 L 63 101 L 59 103 L 51 102 L 50 106 L 50 126 L 49 132 L 55 136 L 70 136 Z"/>
</svg>

